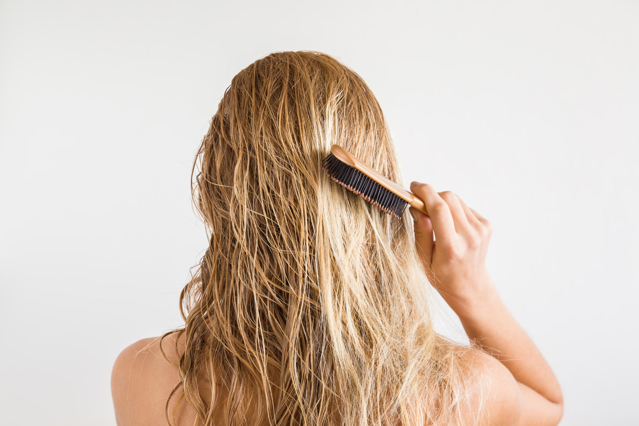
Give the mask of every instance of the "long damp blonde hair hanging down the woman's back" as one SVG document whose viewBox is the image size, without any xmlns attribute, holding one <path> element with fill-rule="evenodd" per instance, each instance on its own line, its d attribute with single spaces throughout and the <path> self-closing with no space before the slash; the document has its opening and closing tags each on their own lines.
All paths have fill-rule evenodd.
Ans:
<svg viewBox="0 0 639 426">
<path fill-rule="evenodd" d="M 330 181 L 331 144 L 400 182 L 373 93 L 319 52 L 252 63 L 213 116 L 193 169 L 210 245 L 163 336 L 185 341 L 169 401 L 204 425 L 460 422 L 466 349 L 433 331 L 410 215 Z"/>
</svg>

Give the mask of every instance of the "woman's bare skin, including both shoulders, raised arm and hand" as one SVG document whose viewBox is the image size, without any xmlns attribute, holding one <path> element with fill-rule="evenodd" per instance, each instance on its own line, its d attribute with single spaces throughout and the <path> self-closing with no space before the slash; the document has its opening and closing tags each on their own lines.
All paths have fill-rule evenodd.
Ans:
<svg viewBox="0 0 639 426">
<path fill-rule="evenodd" d="M 467 368 L 485 373 L 468 386 L 471 405 L 465 423 L 484 426 L 557 425 L 562 392 L 550 366 L 500 300 L 486 270 L 491 223 L 452 192 L 424 183 L 410 186 L 429 215 L 410 208 L 415 244 L 431 284 L 456 312 L 468 337 L 483 351 L 468 351 Z M 162 345 L 173 362 L 183 339 L 169 335 Z M 119 354 L 111 389 L 119 426 L 166 425 L 165 405 L 180 381 L 158 338 L 143 339 Z M 208 386 L 201 392 L 206 397 Z M 169 413 L 173 411 L 169 405 Z M 481 408 L 481 410 L 480 410 Z M 189 404 L 176 411 L 178 424 L 196 423 Z M 215 424 L 225 424 L 216 418 Z"/>
</svg>

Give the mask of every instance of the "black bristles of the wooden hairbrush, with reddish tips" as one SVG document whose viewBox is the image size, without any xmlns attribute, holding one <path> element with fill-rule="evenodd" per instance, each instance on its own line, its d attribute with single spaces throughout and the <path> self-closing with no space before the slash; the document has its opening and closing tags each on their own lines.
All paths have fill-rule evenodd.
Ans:
<svg viewBox="0 0 639 426">
<path fill-rule="evenodd" d="M 358 171 L 354 167 L 340 161 L 334 155 L 329 155 L 322 162 L 321 168 L 335 182 L 346 189 L 355 192 L 366 201 L 378 206 L 394 218 L 399 219 L 408 206 L 401 197 L 393 194 L 366 174 Z"/>
</svg>

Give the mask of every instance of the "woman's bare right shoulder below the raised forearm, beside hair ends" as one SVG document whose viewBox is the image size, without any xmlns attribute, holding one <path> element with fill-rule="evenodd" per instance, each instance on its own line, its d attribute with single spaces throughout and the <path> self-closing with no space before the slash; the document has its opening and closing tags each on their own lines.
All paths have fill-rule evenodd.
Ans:
<svg viewBox="0 0 639 426">
<path fill-rule="evenodd" d="M 520 424 L 520 384 L 511 372 L 500 361 L 479 350 L 465 353 L 463 361 L 469 378 L 466 422 L 486 426 Z"/>
</svg>

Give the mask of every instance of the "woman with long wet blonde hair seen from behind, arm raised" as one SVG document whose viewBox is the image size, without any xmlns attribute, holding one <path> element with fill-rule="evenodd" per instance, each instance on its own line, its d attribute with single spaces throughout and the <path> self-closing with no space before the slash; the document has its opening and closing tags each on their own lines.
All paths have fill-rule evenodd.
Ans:
<svg viewBox="0 0 639 426">
<path fill-rule="evenodd" d="M 429 216 L 391 218 L 321 171 L 332 144 L 399 181 L 346 66 L 279 52 L 236 75 L 194 164 L 210 245 L 185 326 L 119 355 L 118 425 L 557 424 L 557 380 L 486 271 L 490 223 L 415 182 Z M 427 281 L 472 346 L 433 331 Z"/>
</svg>

